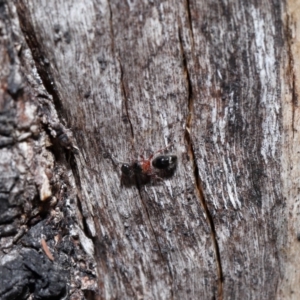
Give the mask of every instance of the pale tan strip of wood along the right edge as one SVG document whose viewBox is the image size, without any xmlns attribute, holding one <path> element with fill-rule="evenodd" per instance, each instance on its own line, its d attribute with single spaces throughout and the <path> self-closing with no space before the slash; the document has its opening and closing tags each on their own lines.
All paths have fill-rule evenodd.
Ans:
<svg viewBox="0 0 300 300">
<path fill-rule="evenodd" d="M 300 289 L 300 223 L 299 223 L 299 163 L 300 163 L 300 111 L 298 95 L 300 59 L 300 5 L 297 1 L 287 1 L 284 15 L 286 26 L 286 53 L 283 56 L 285 68 L 282 71 L 282 194 L 287 215 L 286 243 L 283 253 L 284 276 L 278 287 L 278 299 L 299 299 Z"/>
</svg>

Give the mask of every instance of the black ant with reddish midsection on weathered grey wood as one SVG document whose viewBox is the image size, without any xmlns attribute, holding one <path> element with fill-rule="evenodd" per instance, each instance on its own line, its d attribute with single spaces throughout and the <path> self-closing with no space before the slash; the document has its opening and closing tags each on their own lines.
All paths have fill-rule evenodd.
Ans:
<svg viewBox="0 0 300 300">
<path fill-rule="evenodd" d="M 162 179 L 163 177 L 172 176 L 177 165 L 176 155 L 160 155 L 153 159 L 156 153 L 164 149 L 153 153 L 148 159 L 141 156 L 141 160 L 136 160 L 131 164 L 122 164 L 121 182 L 124 185 L 133 185 L 134 183 L 144 185 L 152 179 Z"/>
</svg>

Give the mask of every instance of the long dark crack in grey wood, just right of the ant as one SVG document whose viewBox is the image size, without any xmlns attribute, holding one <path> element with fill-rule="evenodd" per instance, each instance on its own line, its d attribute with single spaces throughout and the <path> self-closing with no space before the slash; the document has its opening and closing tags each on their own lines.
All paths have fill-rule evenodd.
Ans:
<svg viewBox="0 0 300 300">
<path fill-rule="evenodd" d="M 220 250 L 219 250 L 219 245 L 217 241 L 217 234 L 216 234 L 216 229 L 213 221 L 213 217 L 208 209 L 207 203 L 205 201 L 205 197 L 203 194 L 203 189 L 202 189 L 202 184 L 201 184 L 201 179 L 199 176 L 199 168 L 196 163 L 196 155 L 193 147 L 193 142 L 192 142 L 192 137 L 190 134 L 190 128 L 191 128 L 191 123 L 192 123 L 192 117 L 193 117 L 193 106 L 194 106 L 194 97 L 193 97 L 193 87 L 192 87 L 192 82 L 187 66 L 187 61 L 186 61 L 186 55 L 184 52 L 184 47 L 182 43 L 182 38 L 181 38 L 181 32 L 179 29 L 178 32 L 179 35 L 179 42 L 180 42 L 180 50 L 182 54 L 182 62 L 183 62 L 183 69 L 186 75 L 186 81 L 187 81 L 187 91 L 188 91 L 188 116 L 187 116 L 187 121 L 186 121 L 186 131 L 185 131 L 185 141 L 187 143 L 188 147 L 188 153 L 191 158 L 191 162 L 193 164 L 193 169 L 194 169 L 194 177 L 195 177 L 195 182 L 196 182 L 196 194 L 198 195 L 200 204 L 204 210 L 206 220 L 208 223 L 208 226 L 211 230 L 211 239 L 212 239 L 212 244 L 215 250 L 215 257 L 216 257 L 216 264 L 217 264 L 217 275 L 218 275 L 218 300 L 223 299 L 223 271 L 222 271 L 222 263 L 221 263 L 221 256 L 220 256 Z"/>
</svg>

